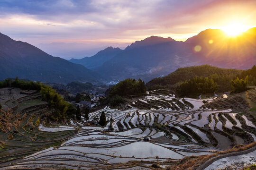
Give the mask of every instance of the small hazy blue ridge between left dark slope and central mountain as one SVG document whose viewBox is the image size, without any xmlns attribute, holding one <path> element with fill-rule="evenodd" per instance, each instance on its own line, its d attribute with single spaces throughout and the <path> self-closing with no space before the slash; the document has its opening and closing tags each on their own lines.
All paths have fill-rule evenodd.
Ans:
<svg viewBox="0 0 256 170">
<path fill-rule="evenodd" d="M 70 59 L 70 62 L 76 64 L 82 64 L 86 68 L 96 68 L 100 67 L 104 62 L 112 59 L 117 54 L 121 53 L 123 50 L 119 48 L 108 47 L 104 50 L 99 51 L 97 54 L 91 57 L 84 57 L 82 59 Z"/>
</svg>

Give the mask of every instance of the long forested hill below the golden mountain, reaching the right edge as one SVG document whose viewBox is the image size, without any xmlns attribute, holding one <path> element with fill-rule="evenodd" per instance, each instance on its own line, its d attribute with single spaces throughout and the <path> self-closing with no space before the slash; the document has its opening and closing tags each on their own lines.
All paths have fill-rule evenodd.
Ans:
<svg viewBox="0 0 256 170">
<path fill-rule="evenodd" d="M 200 81 L 195 81 L 196 79 Z M 215 84 L 218 88 L 215 88 Z M 212 88 L 216 93 L 240 93 L 247 90 L 247 85 L 256 85 L 256 66 L 247 70 L 217 68 L 210 65 L 179 68 L 168 76 L 155 78 L 146 84 L 148 90 L 173 88 L 181 96 L 212 93 Z M 209 90 L 202 89 L 201 86 L 209 86 Z"/>
</svg>

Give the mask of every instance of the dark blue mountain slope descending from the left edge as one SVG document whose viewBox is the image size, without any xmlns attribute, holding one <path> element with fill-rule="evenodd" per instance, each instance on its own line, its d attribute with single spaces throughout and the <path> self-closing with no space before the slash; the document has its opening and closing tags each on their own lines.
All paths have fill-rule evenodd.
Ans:
<svg viewBox="0 0 256 170">
<path fill-rule="evenodd" d="M 0 79 L 16 76 L 58 83 L 101 79 L 98 73 L 82 65 L 53 57 L 27 42 L 0 33 Z"/>
</svg>

